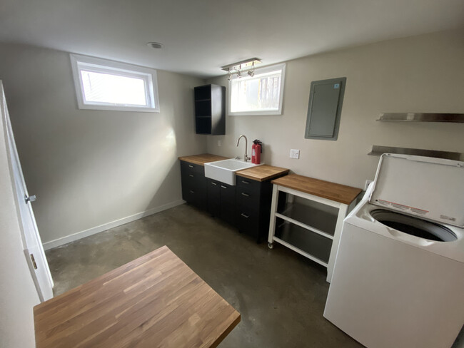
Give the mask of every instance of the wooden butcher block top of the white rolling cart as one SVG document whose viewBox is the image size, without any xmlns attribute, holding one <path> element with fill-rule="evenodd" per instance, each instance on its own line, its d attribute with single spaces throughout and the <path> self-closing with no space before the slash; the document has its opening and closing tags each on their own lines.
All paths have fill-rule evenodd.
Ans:
<svg viewBox="0 0 464 348">
<path fill-rule="evenodd" d="M 296 174 L 283 176 L 282 178 L 272 180 L 271 183 L 348 205 L 362 191 L 360 188 L 352 188 L 351 186 Z"/>
</svg>

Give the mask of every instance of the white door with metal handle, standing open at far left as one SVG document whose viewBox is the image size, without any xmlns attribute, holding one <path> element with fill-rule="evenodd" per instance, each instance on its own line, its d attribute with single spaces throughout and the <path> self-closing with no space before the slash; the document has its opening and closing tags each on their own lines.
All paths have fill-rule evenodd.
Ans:
<svg viewBox="0 0 464 348">
<path fill-rule="evenodd" d="M 29 270 L 31 270 L 32 279 L 36 285 L 40 300 L 44 302 L 53 297 L 53 280 L 51 279 L 49 264 L 46 261 L 44 247 L 42 246 L 36 219 L 34 218 L 34 212 L 31 207 L 31 201 L 34 201 L 35 197 L 29 197 L 26 183 L 24 182 L 8 108 L 6 106 L 4 88 L 1 81 L 0 90 L 1 118 L 8 138 L 9 165 L 10 172 L 14 178 L 14 192 L 16 193 L 16 207 L 19 210 L 19 220 L 21 221 L 21 238 L 24 247 L 24 256 L 29 265 Z"/>
</svg>

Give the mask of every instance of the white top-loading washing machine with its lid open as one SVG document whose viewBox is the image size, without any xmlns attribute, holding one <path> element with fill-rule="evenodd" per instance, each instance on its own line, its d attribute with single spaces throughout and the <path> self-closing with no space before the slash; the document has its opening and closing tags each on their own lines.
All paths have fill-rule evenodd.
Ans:
<svg viewBox="0 0 464 348">
<path fill-rule="evenodd" d="M 368 348 L 451 347 L 464 324 L 464 162 L 382 155 L 343 222 L 324 317 Z"/>
</svg>

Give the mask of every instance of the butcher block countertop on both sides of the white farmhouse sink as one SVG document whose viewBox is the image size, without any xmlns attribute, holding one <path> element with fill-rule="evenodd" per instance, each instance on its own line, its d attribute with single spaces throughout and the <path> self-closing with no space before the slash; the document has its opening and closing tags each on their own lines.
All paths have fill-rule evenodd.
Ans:
<svg viewBox="0 0 464 348">
<path fill-rule="evenodd" d="M 201 155 L 182 156 L 179 157 L 179 160 L 185 160 L 186 162 L 204 166 L 205 163 L 216 162 L 216 160 L 228 160 L 228 158 L 218 155 L 211 155 L 209 153 L 202 153 Z M 272 165 L 263 164 L 253 168 L 239 170 L 236 172 L 236 174 L 251 180 L 266 181 L 286 174 L 289 171 L 290 170 L 286 168 L 273 167 Z"/>
</svg>

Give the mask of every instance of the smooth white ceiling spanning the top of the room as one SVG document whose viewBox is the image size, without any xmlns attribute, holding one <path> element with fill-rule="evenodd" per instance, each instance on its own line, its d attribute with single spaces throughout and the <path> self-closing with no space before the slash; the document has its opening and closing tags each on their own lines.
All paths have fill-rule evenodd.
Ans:
<svg viewBox="0 0 464 348">
<path fill-rule="evenodd" d="M 463 0 L 1 0 L 0 41 L 210 77 L 464 26 Z M 148 48 L 158 41 L 161 50 Z"/>
</svg>

